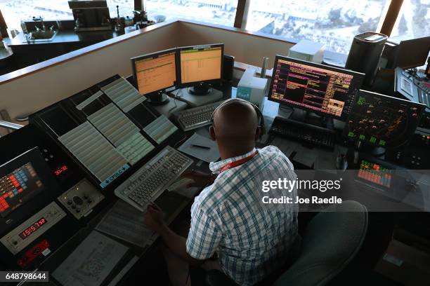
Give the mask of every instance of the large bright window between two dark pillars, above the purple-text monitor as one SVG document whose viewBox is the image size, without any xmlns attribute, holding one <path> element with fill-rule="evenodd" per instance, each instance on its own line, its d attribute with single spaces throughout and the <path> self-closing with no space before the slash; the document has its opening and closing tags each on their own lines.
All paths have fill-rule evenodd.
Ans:
<svg viewBox="0 0 430 286">
<path fill-rule="evenodd" d="M 390 4 L 389 0 L 250 1 L 247 30 L 308 39 L 339 53 L 348 53 L 356 34 L 378 31 Z"/>
</svg>

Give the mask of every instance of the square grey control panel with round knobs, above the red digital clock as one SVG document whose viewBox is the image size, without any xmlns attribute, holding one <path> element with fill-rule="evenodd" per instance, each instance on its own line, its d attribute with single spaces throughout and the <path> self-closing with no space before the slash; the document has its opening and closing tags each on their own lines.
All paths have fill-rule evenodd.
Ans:
<svg viewBox="0 0 430 286">
<path fill-rule="evenodd" d="M 74 217 L 81 219 L 91 212 L 93 207 L 98 205 L 103 198 L 105 198 L 105 196 L 103 196 L 98 189 L 86 179 L 82 179 L 79 183 L 59 196 L 58 200 L 74 215 Z"/>
</svg>

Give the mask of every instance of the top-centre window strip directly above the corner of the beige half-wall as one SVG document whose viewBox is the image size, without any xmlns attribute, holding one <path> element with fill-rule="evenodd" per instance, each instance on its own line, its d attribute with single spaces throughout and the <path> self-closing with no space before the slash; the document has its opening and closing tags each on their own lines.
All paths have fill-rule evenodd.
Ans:
<svg viewBox="0 0 430 286">
<path fill-rule="evenodd" d="M 183 18 L 233 27 L 237 0 L 147 0 L 150 20 Z"/>
</svg>

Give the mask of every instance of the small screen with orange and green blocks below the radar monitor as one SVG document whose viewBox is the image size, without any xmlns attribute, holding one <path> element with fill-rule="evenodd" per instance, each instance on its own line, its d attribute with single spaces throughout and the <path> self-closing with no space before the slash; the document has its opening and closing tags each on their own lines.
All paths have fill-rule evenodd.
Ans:
<svg viewBox="0 0 430 286">
<path fill-rule="evenodd" d="M 393 175 L 392 170 L 384 168 L 382 165 L 363 160 L 360 163 L 358 177 L 368 182 L 378 184 L 379 186 L 389 188 Z"/>
</svg>

